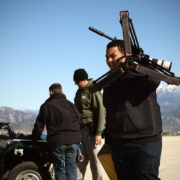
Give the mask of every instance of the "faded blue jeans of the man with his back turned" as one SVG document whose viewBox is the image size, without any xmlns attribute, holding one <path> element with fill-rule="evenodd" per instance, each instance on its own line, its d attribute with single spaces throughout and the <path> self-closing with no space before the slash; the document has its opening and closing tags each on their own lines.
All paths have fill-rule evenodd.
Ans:
<svg viewBox="0 0 180 180">
<path fill-rule="evenodd" d="M 77 180 L 77 144 L 52 149 L 52 163 L 56 180 Z"/>
</svg>

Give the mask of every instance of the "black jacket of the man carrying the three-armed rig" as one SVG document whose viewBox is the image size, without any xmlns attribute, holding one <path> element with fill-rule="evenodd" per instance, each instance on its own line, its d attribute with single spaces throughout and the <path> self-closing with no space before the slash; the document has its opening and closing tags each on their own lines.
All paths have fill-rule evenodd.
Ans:
<svg viewBox="0 0 180 180">
<path fill-rule="evenodd" d="M 107 86 L 103 93 L 106 133 L 123 141 L 160 140 L 162 120 L 156 97 L 159 83 L 155 78 L 126 72 Z"/>
</svg>

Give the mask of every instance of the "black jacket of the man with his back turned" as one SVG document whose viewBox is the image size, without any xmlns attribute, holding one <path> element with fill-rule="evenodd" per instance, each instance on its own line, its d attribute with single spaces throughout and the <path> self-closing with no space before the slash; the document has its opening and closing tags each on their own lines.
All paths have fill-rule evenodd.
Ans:
<svg viewBox="0 0 180 180">
<path fill-rule="evenodd" d="M 38 140 L 46 125 L 51 146 L 77 144 L 81 141 L 80 118 L 74 104 L 64 94 L 52 94 L 40 107 L 32 138 Z"/>
</svg>

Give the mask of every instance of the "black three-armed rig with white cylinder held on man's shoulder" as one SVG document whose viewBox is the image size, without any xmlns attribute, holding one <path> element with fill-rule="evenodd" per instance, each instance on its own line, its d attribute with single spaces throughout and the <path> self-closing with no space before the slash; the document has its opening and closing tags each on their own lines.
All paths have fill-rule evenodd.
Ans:
<svg viewBox="0 0 180 180">
<path fill-rule="evenodd" d="M 121 77 L 125 71 L 130 69 L 160 79 L 168 84 L 179 86 L 180 78 L 176 77 L 175 74 L 170 71 L 172 65 L 171 62 L 152 59 L 149 57 L 149 55 L 144 54 L 143 49 L 139 47 L 132 19 L 129 18 L 128 11 L 120 11 L 119 22 L 123 30 L 125 62 L 96 79 L 93 82 L 93 85 L 89 87 L 89 91 L 93 93 L 97 90 L 103 89 L 115 79 Z M 117 40 L 116 37 L 112 38 L 107 36 L 103 32 L 93 27 L 89 27 L 89 30 L 112 41 Z"/>
</svg>

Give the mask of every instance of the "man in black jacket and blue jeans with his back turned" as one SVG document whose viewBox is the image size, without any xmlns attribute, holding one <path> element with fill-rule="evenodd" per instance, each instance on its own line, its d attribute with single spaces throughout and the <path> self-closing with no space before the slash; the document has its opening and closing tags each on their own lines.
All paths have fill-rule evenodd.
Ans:
<svg viewBox="0 0 180 180">
<path fill-rule="evenodd" d="M 46 125 L 56 180 L 77 180 L 77 144 L 81 141 L 79 114 L 66 99 L 60 84 L 52 84 L 49 93 L 50 97 L 40 107 L 32 137 L 38 140 Z"/>
</svg>

